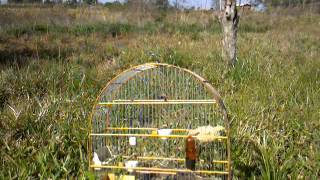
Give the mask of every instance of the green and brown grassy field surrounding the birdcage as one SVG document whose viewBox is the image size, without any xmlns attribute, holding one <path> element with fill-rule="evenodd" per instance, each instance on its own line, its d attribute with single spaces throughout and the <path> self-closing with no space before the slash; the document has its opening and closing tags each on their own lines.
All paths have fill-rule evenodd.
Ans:
<svg viewBox="0 0 320 180">
<path fill-rule="evenodd" d="M 95 97 L 116 74 L 155 61 L 218 89 L 235 178 L 317 179 L 319 29 L 315 12 L 246 12 L 238 63 L 228 67 L 210 12 L 0 7 L 0 179 L 87 176 Z"/>
</svg>

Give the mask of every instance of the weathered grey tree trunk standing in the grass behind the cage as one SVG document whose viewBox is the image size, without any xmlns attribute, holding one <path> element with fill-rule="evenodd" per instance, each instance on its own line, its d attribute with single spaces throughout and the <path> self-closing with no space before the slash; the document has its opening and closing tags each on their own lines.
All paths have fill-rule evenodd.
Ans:
<svg viewBox="0 0 320 180">
<path fill-rule="evenodd" d="M 239 15 L 236 9 L 235 0 L 224 0 L 224 10 L 220 15 L 220 22 L 223 29 L 223 59 L 231 65 L 237 61 L 237 31 Z"/>
</svg>

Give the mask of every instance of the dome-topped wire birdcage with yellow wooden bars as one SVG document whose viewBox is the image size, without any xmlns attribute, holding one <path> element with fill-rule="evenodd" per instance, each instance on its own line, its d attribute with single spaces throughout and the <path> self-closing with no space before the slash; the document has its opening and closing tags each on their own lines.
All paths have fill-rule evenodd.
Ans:
<svg viewBox="0 0 320 180">
<path fill-rule="evenodd" d="M 231 178 L 226 108 L 190 70 L 147 63 L 122 72 L 102 89 L 89 126 L 89 167 L 100 176 Z M 193 168 L 188 138 L 195 141 Z"/>
</svg>

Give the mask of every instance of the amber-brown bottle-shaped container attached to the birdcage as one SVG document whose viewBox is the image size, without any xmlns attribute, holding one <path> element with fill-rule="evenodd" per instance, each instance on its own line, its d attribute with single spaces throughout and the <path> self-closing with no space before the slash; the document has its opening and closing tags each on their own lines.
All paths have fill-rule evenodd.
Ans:
<svg viewBox="0 0 320 180">
<path fill-rule="evenodd" d="M 190 170 L 195 170 L 197 160 L 196 141 L 192 136 L 186 139 L 186 167 Z"/>
</svg>

